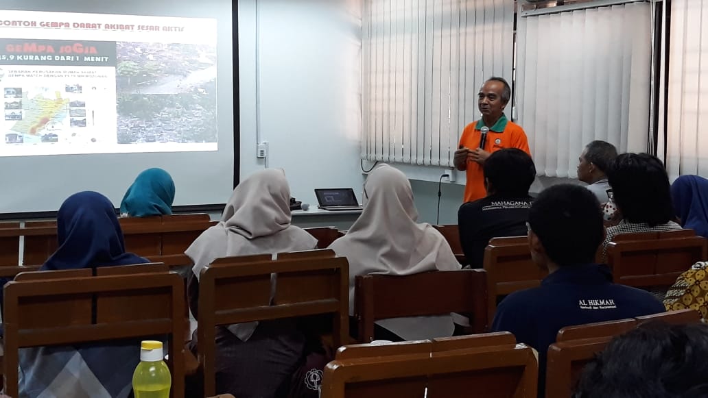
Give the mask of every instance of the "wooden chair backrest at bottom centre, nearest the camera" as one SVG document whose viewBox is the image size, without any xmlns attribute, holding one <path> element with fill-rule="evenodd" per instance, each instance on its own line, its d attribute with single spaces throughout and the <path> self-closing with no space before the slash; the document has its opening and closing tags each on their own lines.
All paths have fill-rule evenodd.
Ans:
<svg viewBox="0 0 708 398">
<path fill-rule="evenodd" d="M 452 346 L 419 341 L 370 346 L 367 356 L 338 355 L 325 368 L 321 397 L 423 398 L 426 389 L 428 397 L 469 397 L 473 391 L 474 397 L 536 396 L 538 364 L 532 349 L 517 346 L 510 335 L 466 339 Z M 481 343 L 495 339 L 503 344 Z"/>
</svg>

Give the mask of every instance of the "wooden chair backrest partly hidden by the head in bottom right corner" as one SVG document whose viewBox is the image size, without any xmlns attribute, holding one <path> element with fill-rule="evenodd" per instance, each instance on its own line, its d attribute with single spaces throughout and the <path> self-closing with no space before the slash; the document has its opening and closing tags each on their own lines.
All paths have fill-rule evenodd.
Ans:
<svg viewBox="0 0 708 398">
<path fill-rule="evenodd" d="M 548 347 L 546 398 L 568 398 L 585 365 L 603 351 L 612 336 L 561 341 Z"/>
</svg>

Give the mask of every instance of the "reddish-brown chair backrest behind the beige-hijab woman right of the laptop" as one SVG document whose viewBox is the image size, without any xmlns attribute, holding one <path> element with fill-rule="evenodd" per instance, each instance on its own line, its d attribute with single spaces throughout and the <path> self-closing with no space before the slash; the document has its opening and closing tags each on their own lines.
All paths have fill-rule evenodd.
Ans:
<svg viewBox="0 0 708 398">
<path fill-rule="evenodd" d="M 354 315 L 362 343 L 374 339 L 377 320 L 450 312 L 469 317 L 472 332 L 484 333 L 486 302 L 486 272 L 482 269 L 406 276 L 369 274 L 355 279 Z"/>
</svg>

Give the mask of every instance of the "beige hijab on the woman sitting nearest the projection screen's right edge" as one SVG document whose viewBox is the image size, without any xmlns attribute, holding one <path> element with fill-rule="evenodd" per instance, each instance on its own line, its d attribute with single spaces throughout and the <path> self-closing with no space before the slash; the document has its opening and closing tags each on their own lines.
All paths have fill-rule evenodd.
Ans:
<svg viewBox="0 0 708 398">
<path fill-rule="evenodd" d="M 290 187 L 285 173 L 277 169 L 253 173 L 234 189 L 222 221 L 205 230 L 185 250 L 194 262 L 194 275 L 199 279 L 202 269 L 222 257 L 316 248 L 316 238 L 302 228 L 290 225 L 290 218 Z M 229 330 L 246 341 L 257 324 L 232 325 Z"/>
</svg>

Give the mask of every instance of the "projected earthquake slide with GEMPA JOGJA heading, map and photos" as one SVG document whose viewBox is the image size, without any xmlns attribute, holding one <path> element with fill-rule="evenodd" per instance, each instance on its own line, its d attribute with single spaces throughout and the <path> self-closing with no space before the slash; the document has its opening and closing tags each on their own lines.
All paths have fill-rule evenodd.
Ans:
<svg viewBox="0 0 708 398">
<path fill-rule="evenodd" d="M 0 156 L 217 150 L 215 20 L 0 15 Z"/>
</svg>

